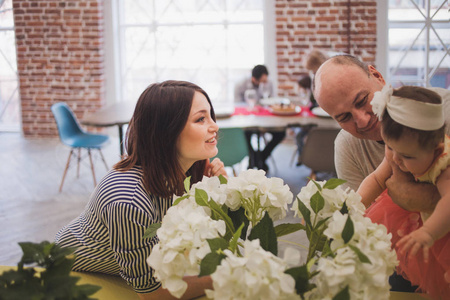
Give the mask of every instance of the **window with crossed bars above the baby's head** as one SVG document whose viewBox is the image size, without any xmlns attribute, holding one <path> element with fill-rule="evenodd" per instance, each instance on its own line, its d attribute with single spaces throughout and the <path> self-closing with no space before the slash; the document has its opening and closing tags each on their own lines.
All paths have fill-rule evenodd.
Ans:
<svg viewBox="0 0 450 300">
<path fill-rule="evenodd" d="M 389 0 L 389 75 L 393 86 L 450 87 L 447 0 Z"/>
</svg>

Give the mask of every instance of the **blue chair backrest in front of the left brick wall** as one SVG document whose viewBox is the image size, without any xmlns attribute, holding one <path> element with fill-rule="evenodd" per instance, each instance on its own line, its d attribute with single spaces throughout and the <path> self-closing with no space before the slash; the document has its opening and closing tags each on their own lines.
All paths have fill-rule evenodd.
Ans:
<svg viewBox="0 0 450 300">
<path fill-rule="evenodd" d="M 58 102 L 52 105 L 52 113 L 58 126 L 59 137 L 63 143 L 74 135 L 83 133 L 78 125 L 77 118 L 64 102 Z"/>
</svg>

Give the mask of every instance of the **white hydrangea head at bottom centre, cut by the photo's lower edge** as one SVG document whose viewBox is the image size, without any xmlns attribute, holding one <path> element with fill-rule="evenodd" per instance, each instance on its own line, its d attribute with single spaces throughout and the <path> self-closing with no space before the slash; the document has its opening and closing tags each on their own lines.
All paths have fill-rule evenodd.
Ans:
<svg viewBox="0 0 450 300">
<path fill-rule="evenodd" d="M 211 275 L 214 290 L 208 298 L 225 299 L 300 299 L 294 279 L 284 273 L 286 263 L 261 248 L 259 240 L 244 241 L 244 257 L 225 250 L 224 258 Z"/>
</svg>

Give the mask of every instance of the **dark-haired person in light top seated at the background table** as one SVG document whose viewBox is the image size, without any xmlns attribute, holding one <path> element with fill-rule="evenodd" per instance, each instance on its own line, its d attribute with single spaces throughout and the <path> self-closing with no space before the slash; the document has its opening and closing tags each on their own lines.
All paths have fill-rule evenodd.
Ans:
<svg viewBox="0 0 450 300">
<path fill-rule="evenodd" d="M 252 76 L 243 79 L 241 82 L 236 84 L 234 89 L 234 100 L 235 102 L 245 102 L 245 93 L 247 90 L 254 90 L 256 94 L 257 103 L 262 98 L 268 98 L 273 96 L 273 85 L 269 80 L 269 71 L 264 65 L 257 65 L 252 69 Z M 285 131 L 265 131 L 272 135 L 271 140 L 267 143 L 262 151 L 259 149 L 253 149 L 251 140 L 254 134 L 261 134 L 258 130 L 244 130 L 245 137 L 247 140 L 247 146 L 249 149 L 249 169 L 257 167 L 258 169 L 263 169 L 264 171 L 269 170 L 266 164 L 267 158 L 272 153 L 273 149 L 284 139 L 286 136 Z"/>
</svg>

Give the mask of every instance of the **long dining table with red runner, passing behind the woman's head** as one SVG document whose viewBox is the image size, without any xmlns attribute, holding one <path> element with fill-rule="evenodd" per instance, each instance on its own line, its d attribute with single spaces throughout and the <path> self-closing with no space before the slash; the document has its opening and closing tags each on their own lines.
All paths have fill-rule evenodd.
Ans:
<svg viewBox="0 0 450 300">
<path fill-rule="evenodd" d="M 125 153 L 124 127 L 130 122 L 135 106 L 136 103 L 133 101 L 110 104 L 95 112 L 86 113 L 80 122 L 93 127 L 117 126 L 120 156 L 123 157 Z M 302 107 L 294 113 L 277 114 L 268 106 L 255 106 L 250 110 L 246 106 L 236 104 L 234 107 L 228 106 L 225 109 L 219 107 L 216 111 L 216 118 L 219 128 L 243 128 L 257 132 L 283 131 L 288 127 L 305 125 L 339 128 L 339 124 L 335 120 L 327 116 L 314 115 L 308 107 Z"/>
</svg>

